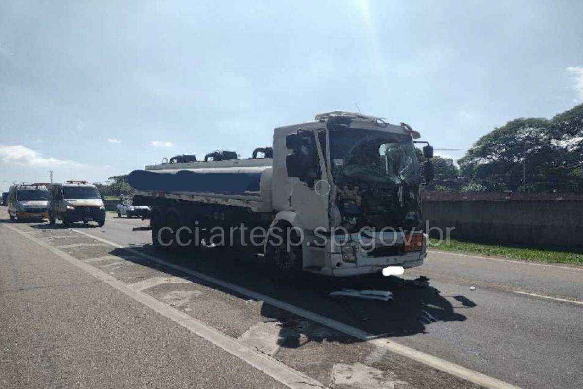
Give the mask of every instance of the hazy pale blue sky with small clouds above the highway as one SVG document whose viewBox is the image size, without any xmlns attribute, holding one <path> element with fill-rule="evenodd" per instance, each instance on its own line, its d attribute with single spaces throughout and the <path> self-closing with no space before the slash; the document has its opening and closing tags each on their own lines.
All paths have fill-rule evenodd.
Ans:
<svg viewBox="0 0 583 389">
<path fill-rule="evenodd" d="M 354 103 L 459 157 L 583 101 L 581 20 L 581 1 L 2 2 L 0 189 L 247 157 Z"/>
</svg>

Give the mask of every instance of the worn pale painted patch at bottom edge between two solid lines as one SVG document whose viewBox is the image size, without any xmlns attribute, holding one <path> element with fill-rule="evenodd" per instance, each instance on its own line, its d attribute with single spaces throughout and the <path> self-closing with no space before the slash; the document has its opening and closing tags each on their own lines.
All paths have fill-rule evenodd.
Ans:
<svg viewBox="0 0 583 389">
<path fill-rule="evenodd" d="M 332 388 L 347 387 L 354 389 L 394 389 L 409 387 L 405 381 L 383 377 L 382 370 L 368 367 L 362 363 L 336 363 L 332 366 Z"/>
</svg>

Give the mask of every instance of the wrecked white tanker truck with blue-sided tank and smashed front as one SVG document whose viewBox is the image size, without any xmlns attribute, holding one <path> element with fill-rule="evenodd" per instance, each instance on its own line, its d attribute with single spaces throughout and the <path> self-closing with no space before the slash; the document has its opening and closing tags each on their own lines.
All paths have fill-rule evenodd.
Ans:
<svg viewBox="0 0 583 389">
<path fill-rule="evenodd" d="M 381 272 L 423 264 L 422 169 L 409 125 L 345 111 L 276 128 L 249 159 L 214 152 L 134 170 L 135 205 L 152 208 L 157 250 L 245 247 L 283 276 Z M 419 142 L 427 143 L 427 142 Z M 423 178 L 433 179 L 433 148 Z M 262 157 L 259 157 L 262 155 Z"/>
</svg>

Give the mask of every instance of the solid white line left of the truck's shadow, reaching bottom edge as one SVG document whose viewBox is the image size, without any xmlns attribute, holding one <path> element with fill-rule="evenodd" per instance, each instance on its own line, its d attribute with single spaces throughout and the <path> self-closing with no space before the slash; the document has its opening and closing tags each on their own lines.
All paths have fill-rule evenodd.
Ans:
<svg viewBox="0 0 583 389">
<path fill-rule="evenodd" d="M 306 376 L 305 374 L 299 372 L 296 369 L 293 369 L 290 366 L 285 365 L 282 362 L 279 362 L 279 360 L 273 359 L 264 353 L 238 343 L 236 339 L 223 334 L 223 332 L 210 327 L 202 321 L 196 320 L 194 317 L 191 317 L 184 312 L 174 309 L 173 307 L 170 307 L 167 304 L 154 299 L 152 296 L 132 290 L 124 282 L 100 271 L 99 269 L 94 268 L 92 265 L 79 261 L 72 255 L 66 254 L 63 251 L 60 251 L 57 248 L 51 246 L 50 244 L 47 244 L 44 241 L 21 231 L 20 229 L 9 225 L 5 226 L 6 228 L 13 230 L 16 233 L 21 234 L 27 239 L 34 241 L 39 246 L 46 248 L 48 251 L 51 251 L 51 253 L 57 255 L 63 260 L 68 261 L 83 271 L 93 275 L 95 278 L 103 281 L 104 283 L 107 283 L 107 285 L 112 286 L 132 299 L 169 318 L 170 320 L 174 321 L 174 323 L 187 328 L 187 330 L 193 332 L 195 335 L 206 339 L 213 345 L 222 348 L 224 351 L 230 353 L 231 355 L 236 356 L 256 369 L 261 370 L 261 372 L 264 372 L 269 377 L 272 377 L 272 379 L 279 381 L 287 387 L 292 389 L 313 389 L 314 387 L 325 388 L 324 384 Z"/>
</svg>

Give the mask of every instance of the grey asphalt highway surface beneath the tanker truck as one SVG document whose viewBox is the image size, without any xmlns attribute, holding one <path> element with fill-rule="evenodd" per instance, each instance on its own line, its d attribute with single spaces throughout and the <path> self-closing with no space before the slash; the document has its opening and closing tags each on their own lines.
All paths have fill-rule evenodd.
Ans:
<svg viewBox="0 0 583 389">
<path fill-rule="evenodd" d="M 290 386 L 221 342 L 185 330 L 180 320 L 168 318 L 172 313 L 165 316 L 163 310 L 157 312 L 148 302 L 122 293 L 122 286 L 120 292 L 113 283 L 96 281 L 71 261 L 138 288 L 227 340 L 267 356 L 265 363 L 283 363 L 291 373 L 305 374 L 322 386 L 363 387 L 357 383 L 363 379 L 354 377 L 373 377 L 364 387 L 390 387 L 395 380 L 405 387 L 477 387 L 379 348 L 378 339 L 355 339 L 317 319 L 282 310 L 275 302 L 516 386 L 583 386 L 583 268 L 432 252 L 423 267 L 404 277 L 428 276 L 427 288 L 382 277 L 308 278 L 301 285 L 282 285 L 241 254 L 154 253 L 150 232 L 132 231 L 147 226 L 138 219 L 108 214 L 104 227 L 79 224 L 72 229 L 48 223 L 4 224 L 2 388 Z M 212 280 L 261 293 L 273 303 L 250 299 Z M 395 296 L 385 303 L 328 295 L 345 286 L 389 289 Z"/>
</svg>

